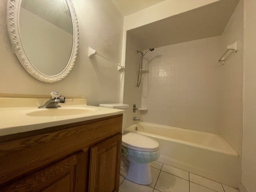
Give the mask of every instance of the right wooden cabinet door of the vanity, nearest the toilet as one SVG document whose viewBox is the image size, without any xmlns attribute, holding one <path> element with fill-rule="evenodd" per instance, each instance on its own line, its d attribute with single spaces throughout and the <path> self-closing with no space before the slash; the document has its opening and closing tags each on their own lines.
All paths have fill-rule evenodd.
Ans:
<svg viewBox="0 0 256 192">
<path fill-rule="evenodd" d="M 122 134 L 91 148 L 89 192 L 118 192 Z"/>
</svg>

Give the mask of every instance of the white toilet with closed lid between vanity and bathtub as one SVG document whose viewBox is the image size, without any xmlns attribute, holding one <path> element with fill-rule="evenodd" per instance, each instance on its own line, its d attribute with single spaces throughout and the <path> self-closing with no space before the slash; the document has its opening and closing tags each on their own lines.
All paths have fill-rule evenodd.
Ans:
<svg viewBox="0 0 256 192">
<path fill-rule="evenodd" d="M 123 125 L 128 115 L 129 105 L 122 103 L 100 104 L 100 107 L 123 109 Z M 152 183 L 150 162 L 160 156 L 159 144 L 154 139 L 138 133 L 127 133 L 122 136 L 122 158 L 120 174 L 135 183 L 149 185 Z"/>
</svg>

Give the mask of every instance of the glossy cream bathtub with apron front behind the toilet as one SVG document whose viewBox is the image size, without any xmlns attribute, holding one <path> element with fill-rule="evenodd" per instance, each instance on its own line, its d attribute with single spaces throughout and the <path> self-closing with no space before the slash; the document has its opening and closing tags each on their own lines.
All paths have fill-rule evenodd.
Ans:
<svg viewBox="0 0 256 192">
<path fill-rule="evenodd" d="M 127 132 L 158 141 L 158 161 L 238 188 L 238 154 L 220 135 L 144 122 L 127 127 Z"/>
</svg>

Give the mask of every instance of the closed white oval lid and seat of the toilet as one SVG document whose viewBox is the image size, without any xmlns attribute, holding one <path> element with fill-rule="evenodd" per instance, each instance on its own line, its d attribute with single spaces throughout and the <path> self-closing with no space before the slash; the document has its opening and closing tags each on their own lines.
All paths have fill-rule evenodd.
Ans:
<svg viewBox="0 0 256 192">
<path fill-rule="evenodd" d="M 123 135 L 122 145 L 126 148 L 143 152 L 155 152 L 159 150 L 159 144 L 157 141 L 132 132 Z"/>
</svg>

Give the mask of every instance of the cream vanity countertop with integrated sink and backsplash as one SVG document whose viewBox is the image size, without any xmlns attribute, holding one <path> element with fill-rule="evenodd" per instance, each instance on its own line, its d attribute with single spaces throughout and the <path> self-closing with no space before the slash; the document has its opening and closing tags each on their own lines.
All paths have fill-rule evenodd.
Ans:
<svg viewBox="0 0 256 192">
<path fill-rule="evenodd" d="M 76 123 L 79 121 L 123 113 L 123 110 L 120 109 L 89 106 L 87 105 L 86 99 L 66 99 L 65 103 L 59 103 L 61 108 L 38 109 L 38 106 L 43 105 L 47 100 L 48 99 L 45 98 L 0 98 L 0 136 L 34 131 L 47 127 Z M 77 115 L 29 115 L 35 112 L 41 113 L 41 111 L 45 111 L 46 114 L 47 111 L 49 111 L 50 114 L 55 114 L 54 110 L 60 111 L 63 109 L 67 109 L 67 111 L 73 109 L 82 111 L 88 109 L 90 112 Z"/>
</svg>

